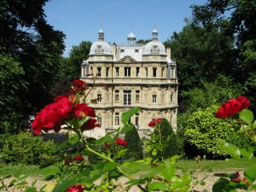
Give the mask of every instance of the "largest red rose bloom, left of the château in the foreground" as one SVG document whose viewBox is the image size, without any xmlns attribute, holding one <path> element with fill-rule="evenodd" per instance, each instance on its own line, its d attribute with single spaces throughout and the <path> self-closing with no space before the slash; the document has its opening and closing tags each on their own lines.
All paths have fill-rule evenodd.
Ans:
<svg viewBox="0 0 256 192">
<path fill-rule="evenodd" d="M 32 131 L 38 135 L 41 130 L 60 130 L 62 121 L 72 115 L 73 103 L 67 96 L 56 96 L 55 102 L 43 108 L 32 122 Z"/>
</svg>

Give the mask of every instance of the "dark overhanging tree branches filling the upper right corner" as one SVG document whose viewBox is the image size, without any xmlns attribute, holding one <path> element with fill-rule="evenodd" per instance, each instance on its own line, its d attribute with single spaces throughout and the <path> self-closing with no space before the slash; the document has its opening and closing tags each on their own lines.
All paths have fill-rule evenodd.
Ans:
<svg viewBox="0 0 256 192">
<path fill-rule="evenodd" d="M 249 85 L 248 97 L 255 103 L 256 87 L 256 2 L 253 0 L 209 0 L 204 5 L 194 5 L 193 22 L 197 26 L 221 29 L 235 40 L 233 46 L 233 77 Z M 228 15 L 228 16 L 227 16 Z M 251 86 L 254 84 L 253 86 Z M 254 106 L 256 108 L 256 106 Z M 255 109 L 256 110 L 256 109 Z"/>
</svg>

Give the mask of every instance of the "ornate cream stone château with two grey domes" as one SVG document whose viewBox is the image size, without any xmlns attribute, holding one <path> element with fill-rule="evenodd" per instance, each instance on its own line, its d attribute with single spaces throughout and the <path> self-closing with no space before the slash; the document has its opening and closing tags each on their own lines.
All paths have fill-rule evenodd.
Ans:
<svg viewBox="0 0 256 192">
<path fill-rule="evenodd" d="M 146 45 L 137 44 L 133 32 L 127 44 L 109 45 L 102 29 L 98 32 L 99 39 L 91 45 L 89 59 L 81 65 L 81 79 L 91 86 L 93 76 L 97 76 L 86 102 L 96 109 L 102 127 L 87 132 L 87 136 L 102 137 L 122 126 L 121 114 L 133 107 L 141 108 L 131 118 L 141 137 L 150 129 L 148 123 L 152 119 L 166 118 L 176 129 L 177 67 L 171 60 L 171 49 L 158 41 L 156 29 L 152 33 L 152 41 Z M 93 99 L 98 102 L 91 103 Z"/>
</svg>

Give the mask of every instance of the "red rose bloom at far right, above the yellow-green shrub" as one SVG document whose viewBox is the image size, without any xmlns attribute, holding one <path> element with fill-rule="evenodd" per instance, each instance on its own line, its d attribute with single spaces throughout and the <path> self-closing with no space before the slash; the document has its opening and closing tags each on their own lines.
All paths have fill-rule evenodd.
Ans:
<svg viewBox="0 0 256 192">
<path fill-rule="evenodd" d="M 218 118 L 230 118 L 236 113 L 240 113 L 242 109 L 248 108 L 250 100 L 245 96 L 237 96 L 236 99 L 230 99 L 224 102 L 215 113 Z"/>
</svg>

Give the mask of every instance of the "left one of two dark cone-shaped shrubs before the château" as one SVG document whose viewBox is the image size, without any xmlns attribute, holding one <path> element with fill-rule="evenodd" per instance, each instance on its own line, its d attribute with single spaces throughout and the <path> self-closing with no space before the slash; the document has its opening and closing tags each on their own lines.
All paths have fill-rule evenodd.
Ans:
<svg viewBox="0 0 256 192">
<path fill-rule="evenodd" d="M 135 160 L 142 160 L 143 159 L 143 143 L 134 125 L 132 126 L 131 131 L 126 132 L 125 141 L 128 142 L 128 145 L 126 146 L 127 151 L 125 156 Z"/>
</svg>

